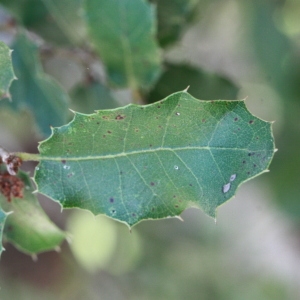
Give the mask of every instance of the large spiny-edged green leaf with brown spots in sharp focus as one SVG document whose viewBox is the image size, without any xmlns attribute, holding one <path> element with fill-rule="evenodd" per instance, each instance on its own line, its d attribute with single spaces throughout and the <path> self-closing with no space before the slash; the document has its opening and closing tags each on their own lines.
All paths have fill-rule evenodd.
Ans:
<svg viewBox="0 0 300 300">
<path fill-rule="evenodd" d="M 76 113 L 39 146 L 38 191 L 132 226 L 190 206 L 212 217 L 237 187 L 267 171 L 271 124 L 244 101 L 178 92 L 151 105 Z"/>
</svg>

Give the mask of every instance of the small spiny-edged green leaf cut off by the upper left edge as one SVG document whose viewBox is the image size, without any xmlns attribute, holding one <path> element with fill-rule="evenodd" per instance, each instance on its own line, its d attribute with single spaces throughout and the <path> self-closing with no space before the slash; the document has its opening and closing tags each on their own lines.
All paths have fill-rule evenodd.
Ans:
<svg viewBox="0 0 300 300">
<path fill-rule="evenodd" d="M 10 98 L 9 87 L 16 79 L 11 62 L 11 50 L 0 42 L 0 100 Z"/>
</svg>

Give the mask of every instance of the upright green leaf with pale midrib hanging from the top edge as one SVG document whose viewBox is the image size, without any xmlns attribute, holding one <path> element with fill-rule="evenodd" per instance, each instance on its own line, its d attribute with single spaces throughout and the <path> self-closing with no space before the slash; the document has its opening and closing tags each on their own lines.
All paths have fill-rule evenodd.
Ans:
<svg viewBox="0 0 300 300">
<path fill-rule="evenodd" d="M 148 88 L 160 72 L 155 11 L 145 0 L 85 0 L 86 20 L 110 82 Z"/>
</svg>

